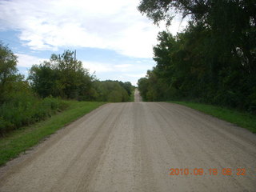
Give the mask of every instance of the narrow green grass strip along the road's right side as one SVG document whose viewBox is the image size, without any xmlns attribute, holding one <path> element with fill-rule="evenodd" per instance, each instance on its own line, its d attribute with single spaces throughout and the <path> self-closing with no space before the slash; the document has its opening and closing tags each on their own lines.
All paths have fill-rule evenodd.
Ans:
<svg viewBox="0 0 256 192">
<path fill-rule="evenodd" d="M 203 113 L 210 114 L 216 118 L 225 120 L 226 122 L 234 123 L 256 133 L 256 115 L 238 110 L 230 110 L 220 106 L 212 106 L 196 102 L 173 102 L 183 106 L 188 106 L 192 109 L 202 111 Z"/>
</svg>

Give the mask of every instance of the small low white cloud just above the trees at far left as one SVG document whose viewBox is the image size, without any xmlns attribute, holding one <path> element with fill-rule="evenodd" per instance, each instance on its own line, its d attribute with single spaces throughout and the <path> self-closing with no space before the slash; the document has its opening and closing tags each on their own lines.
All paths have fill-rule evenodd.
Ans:
<svg viewBox="0 0 256 192">
<path fill-rule="evenodd" d="M 43 61 L 46 61 L 45 58 L 37 58 L 28 54 L 15 54 L 18 56 L 17 66 L 28 67 L 30 68 L 34 64 L 39 64 Z"/>
</svg>

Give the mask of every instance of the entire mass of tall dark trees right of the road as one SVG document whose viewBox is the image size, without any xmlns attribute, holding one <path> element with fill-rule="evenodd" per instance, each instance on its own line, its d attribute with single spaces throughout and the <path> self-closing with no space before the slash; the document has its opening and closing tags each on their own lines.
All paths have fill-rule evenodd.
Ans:
<svg viewBox="0 0 256 192">
<path fill-rule="evenodd" d="M 169 25 L 174 11 L 190 17 L 181 33 L 158 34 L 157 65 L 138 80 L 144 100 L 189 99 L 256 112 L 254 1 L 142 0 L 138 9 L 154 23 Z"/>
</svg>

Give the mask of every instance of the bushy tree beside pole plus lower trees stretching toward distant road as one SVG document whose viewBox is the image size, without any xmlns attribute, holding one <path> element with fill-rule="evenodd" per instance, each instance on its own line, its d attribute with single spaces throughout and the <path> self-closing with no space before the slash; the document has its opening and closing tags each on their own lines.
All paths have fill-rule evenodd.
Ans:
<svg viewBox="0 0 256 192">
<path fill-rule="evenodd" d="M 127 102 L 132 93 L 130 82 L 99 82 L 74 61 L 73 52 L 52 54 L 50 62 L 42 62 L 30 69 L 30 85 L 41 97 L 54 96 L 83 101 Z"/>
</svg>

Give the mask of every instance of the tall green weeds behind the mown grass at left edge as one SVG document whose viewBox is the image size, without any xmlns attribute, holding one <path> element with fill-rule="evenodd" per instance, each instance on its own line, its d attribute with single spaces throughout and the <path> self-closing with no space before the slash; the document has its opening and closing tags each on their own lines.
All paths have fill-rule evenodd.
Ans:
<svg viewBox="0 0 256 192">
<path fill-rule="evenodd" d="M 66 104 L 58 98 L 37 98 L 26 91 L 10 94 L 0 106 L 0 135 L 50 117 L 64 110 Z"/>
</svg>

